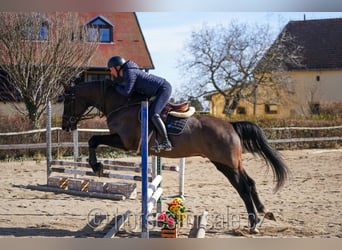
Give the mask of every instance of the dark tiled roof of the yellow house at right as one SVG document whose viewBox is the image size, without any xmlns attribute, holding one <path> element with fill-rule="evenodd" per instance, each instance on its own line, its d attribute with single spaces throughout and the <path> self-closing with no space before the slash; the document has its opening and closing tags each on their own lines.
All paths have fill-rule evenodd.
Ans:
<svg viewBox="0 0 342 250">
<path fill-rule="evenodd" d="M 290 21 L 285 30 L 304 47 L 305 69 L 342 69 L 342 18 Z"/>
</svg>

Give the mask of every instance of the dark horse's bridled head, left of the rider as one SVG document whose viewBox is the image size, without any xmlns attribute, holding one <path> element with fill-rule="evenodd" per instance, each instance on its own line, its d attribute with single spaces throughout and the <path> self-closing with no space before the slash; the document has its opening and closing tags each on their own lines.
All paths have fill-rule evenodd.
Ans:
<svg viewBox="0 0 342 250">
<path fill-rule="evenodd" d="M 69 131 L 77 128 L 77 123 L 81 120 L 83 113 L 87 109 L 87 104 L 77 95 L 76 86 L 65 88 L 63 93 L 64 110 L 62 116 L 62 129 Z"/>
</svg>

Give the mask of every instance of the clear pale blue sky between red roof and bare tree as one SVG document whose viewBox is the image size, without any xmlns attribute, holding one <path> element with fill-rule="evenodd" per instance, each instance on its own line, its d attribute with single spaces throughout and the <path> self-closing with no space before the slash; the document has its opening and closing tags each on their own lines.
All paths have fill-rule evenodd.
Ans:
<svg viewBox="0 0 342 250">
<path fill-rule="evenodd" d="M 177 62 L 180 52 L 192 31 L 207 25 L 239 23 L 268 24 L 276 36 L 289 21 L 342 18 L 342 12 L 136 12 L 154 70 L 151 74 L 167 79 L 174 92 L 182 84 L 181 70 Z"/>
</svg>

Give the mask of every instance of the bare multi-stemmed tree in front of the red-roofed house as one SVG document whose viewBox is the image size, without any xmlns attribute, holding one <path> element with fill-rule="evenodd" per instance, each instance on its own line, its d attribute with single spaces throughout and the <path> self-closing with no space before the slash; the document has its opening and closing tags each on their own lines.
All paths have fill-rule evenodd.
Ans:
<svg viewBox="0 0 342 250">
<path fill-rule="evenodd" d="M 0 74 L 7 79 L 0 84 L 38 127 L 47 101 L 88 66 L 97 34 L 88 34 L 76 13 L 2 12 L 0 19 Z"/>
</svg>

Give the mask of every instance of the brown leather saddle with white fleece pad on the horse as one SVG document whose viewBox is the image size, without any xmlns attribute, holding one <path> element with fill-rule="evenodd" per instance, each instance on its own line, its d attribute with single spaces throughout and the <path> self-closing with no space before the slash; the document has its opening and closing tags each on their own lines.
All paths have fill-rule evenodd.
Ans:
<svg viewBox="0 0 342 250">
<path fill-rule="evenodd" d="M 192 116 L 194 113 L 195 108 L 190 107 L 190 103 L 188 101 L 183 103 L 168 102 L 161 112 L 160 117 L 165 123 L 168 115 L 180 118 L 187 118 Z"/>
</svg>

